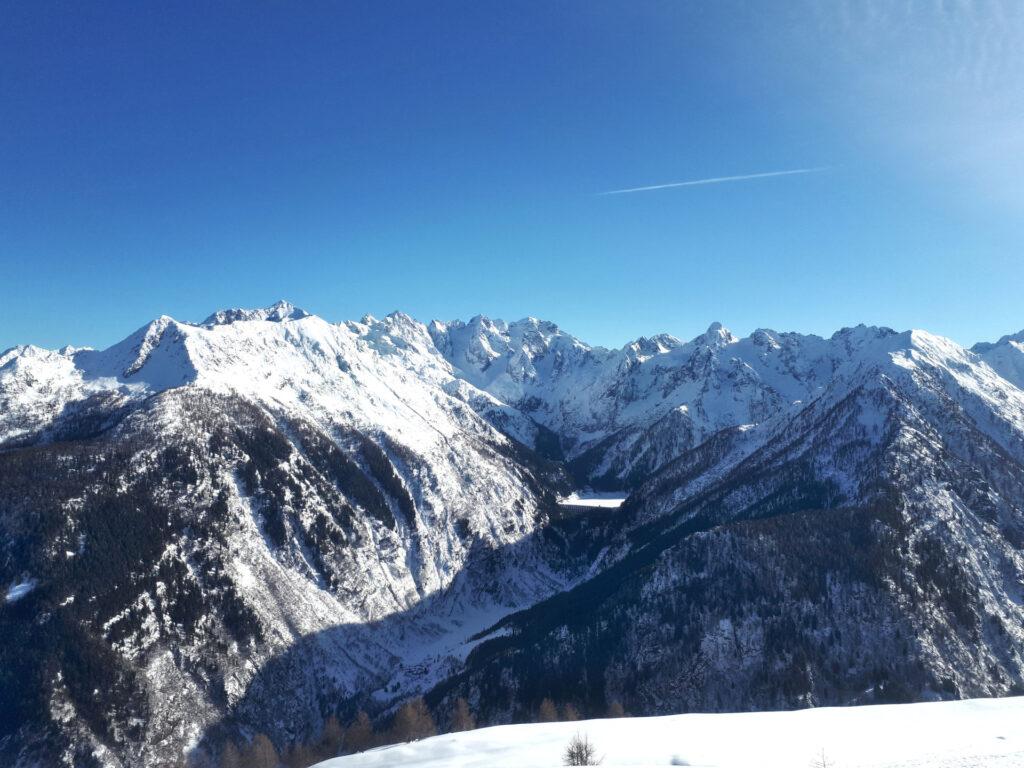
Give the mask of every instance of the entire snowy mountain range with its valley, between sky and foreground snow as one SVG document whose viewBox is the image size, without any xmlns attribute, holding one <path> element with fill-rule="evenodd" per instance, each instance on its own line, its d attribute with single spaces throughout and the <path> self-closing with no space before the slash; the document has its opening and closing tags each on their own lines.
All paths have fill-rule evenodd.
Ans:
<svg viewBox="0 0 1024 768">
<path fill-rule="evenodd" d="M 0 354 L 0 756 L 1024 690 L 1024 333 L 330 324 Z M 567 515 L 572 490 L 620 509 Z"/>
</svg>

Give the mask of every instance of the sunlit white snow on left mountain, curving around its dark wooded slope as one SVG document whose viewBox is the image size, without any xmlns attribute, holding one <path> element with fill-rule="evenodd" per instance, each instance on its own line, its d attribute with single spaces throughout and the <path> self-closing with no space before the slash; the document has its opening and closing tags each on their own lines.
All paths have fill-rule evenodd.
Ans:
<svg viewBox="0 0 1024 768">
<path fill-rule="evenodd" d="M 400 566 L 386 569 L 378 586 L 366 585 L 353 605 L 332 611 L 336 623 L 370 621 L 450 585 L 472 541 L 510 544 L 540 514 L 537 488 L 501 453 L 508 438 L 465 402 L 493 398 L 467 388 L 424 327 L 399 313 L 333 325 L 280 303 L 216 312 L 202 326 L 165 316 L 102 351 L 26 347 L 6 354 L 0 444 L 62 436 L 68 415 L 97 399 L 122 409 L 151 402 L 159 431 L 173 439 L 191 427 L 186 399 L 150 398 L 190 390 L 254 403 L 286 431 L 289 420 L 309 424 L 343 447 L 340 435 L 368 435 L 389 455 L 414 507 L 412 519 L 397 516 L 397 529 L 367 531 L 374 559 L 381 549 L 396 550 Z M 248 504 L 237 489 L 232 497 Z M 458 525 L 463 540 L 452 535 Z"/>
</svg>

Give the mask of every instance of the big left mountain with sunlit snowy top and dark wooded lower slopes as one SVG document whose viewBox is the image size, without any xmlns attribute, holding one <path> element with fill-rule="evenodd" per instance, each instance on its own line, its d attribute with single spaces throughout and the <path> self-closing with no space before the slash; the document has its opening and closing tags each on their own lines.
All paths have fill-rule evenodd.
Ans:
<svg viewBox="0 0 1024 768">
<path fill-rule="evenodd" d="M 447 663 L 425 659 L 573 579 L 530 541 L 563 475 L 467 400 L 502 411 L 401 314 L 278 305 L 5 352 L 0 584 L 36 586 L 8 594 L 0 635 L 13 652 L 45 621 L 49 641 L 28 654 L 38 700 L 13 695 L 26 670 L 0 672 L 0 721 L 158 765 L 237 710 L 286 737 L 325 697 L 429 684 Z M 256 674 L 298 643 L 307 695 L 260 698 Z M 72 685 L 70 645 L 131 707 L 92 700 L 93 672 Z"/>
</svg>

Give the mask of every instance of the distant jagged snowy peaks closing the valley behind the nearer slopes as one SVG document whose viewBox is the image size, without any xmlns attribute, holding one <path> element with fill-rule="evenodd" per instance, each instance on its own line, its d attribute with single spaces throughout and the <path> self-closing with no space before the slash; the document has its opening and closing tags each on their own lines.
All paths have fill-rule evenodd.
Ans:
<svg viewBox="0 0 1024 768">
<path fill-rule="evenodd" d="M 830 339 L 760 329 L 739 339 L 715 323 L 682 343 L 662 335 L 618 350 L 592 348 L 550 323 L 474 317 L 433 323 L 430 334 L 458 375 L 561 437 L 578 479 L 634 487 L 723 429 L 788 418 L 859 372 L 934 366 L 970 369 L 988 386 L 987 362 L 1015 387 L 1016 337 L 975 356 L 924 332 L 844 329 Z M 975 348 L 978 351 L 978 348 Z M 938 359 L 946 355 L 948 359 Z M 1024 364 L 1020 364 L 1024 371 Z"/>
</svg>

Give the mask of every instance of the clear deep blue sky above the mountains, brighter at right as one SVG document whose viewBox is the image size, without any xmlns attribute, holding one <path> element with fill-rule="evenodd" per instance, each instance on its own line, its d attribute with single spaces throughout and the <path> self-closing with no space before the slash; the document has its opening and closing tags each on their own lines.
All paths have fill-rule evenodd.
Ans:
<svg viewBox="0 0 1024 768">
<path fill-rule="evenodd" d="M 6 3 L 0 349 L 282 297 L 1018 331 L 1024 6 L 895 5 Z"/>
</svg>

